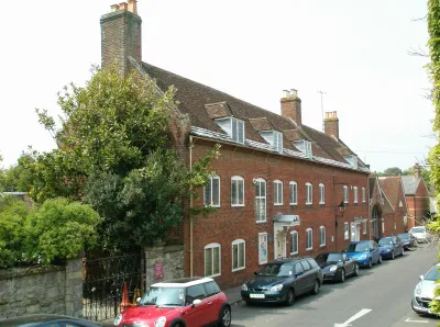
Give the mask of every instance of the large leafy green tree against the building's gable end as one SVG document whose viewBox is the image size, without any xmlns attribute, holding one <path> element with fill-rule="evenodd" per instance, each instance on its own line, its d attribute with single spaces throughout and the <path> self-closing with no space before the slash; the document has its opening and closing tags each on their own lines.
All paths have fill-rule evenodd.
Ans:
<svg viewBox="0 0 440 327">
<path fill-rule="evenodd" d="M 127 249 L 166 237 L 188 214 L 185 200 L 211 174 L 216 146 L 189 170 L 169 144 L 174 89 L 114 67 L 95 70 L 85 88 L 65 88 L 61 128 L 37 110 L 58 147 L 34 156 L 31 194 L 37 201 L 66 196 L 90 203 L 105 218 L 107 249 Z M 193 214 L 209 208 L 195 207 Z"/>
</svg>

